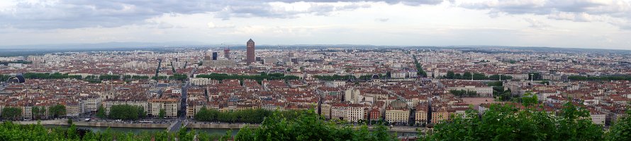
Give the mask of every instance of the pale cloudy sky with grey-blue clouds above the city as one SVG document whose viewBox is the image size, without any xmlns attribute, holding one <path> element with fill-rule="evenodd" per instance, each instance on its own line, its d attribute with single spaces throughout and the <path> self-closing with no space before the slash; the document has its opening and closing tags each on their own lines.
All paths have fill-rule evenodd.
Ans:
<svg viewBox="0 0 631 141">
<path fill-rule="evenodd" d="M 0 1 L 0 46 L 250 38 L 631 49 L 631 0 Z"/>
</svg>

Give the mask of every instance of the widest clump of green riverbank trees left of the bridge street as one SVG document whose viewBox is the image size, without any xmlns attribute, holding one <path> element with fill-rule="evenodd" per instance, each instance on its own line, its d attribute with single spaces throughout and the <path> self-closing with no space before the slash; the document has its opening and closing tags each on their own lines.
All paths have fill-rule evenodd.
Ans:
<svg viewBox="0 0 631 141">
<path fill-rule="evenodd" d="M 133 105 L 113 105 L 110 107 L 110 113 L 108 116 L 104 116 L 103 113 L 99 114 L 99 112 L 104 111 L 105 109 L 99 107 L 99 111 L 97 111 L 97 116 L 107 117 L 111 119 L 121 119 L 121 120 L 137 120 L 140 118 L 147 117 L 147 112 L 145 108 L 142 106 L 133 106 Z"/>
</svg>

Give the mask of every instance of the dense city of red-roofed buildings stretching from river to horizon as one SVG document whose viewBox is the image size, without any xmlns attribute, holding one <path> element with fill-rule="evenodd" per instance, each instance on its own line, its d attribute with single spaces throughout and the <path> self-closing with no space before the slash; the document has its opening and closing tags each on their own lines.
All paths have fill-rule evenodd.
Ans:
<svg viewBox="0 0 631 141">
<path fill-rule="evenodd" d="M 573 104 L 605 129 L 626 116 L 628 54 L 486 50 L 256 49 L 250 39 L 244 50 L 2 57 L 0 114 L 21 123 L 68 125 L 67 118 L 84 126 L 177 132 L 257 127 L 273 111 L 312 111 L 330 121 L 389 125 L 406 140 L 467 111 L 484 115 L 494 104 L 525 97 L 551 115 Z"/>
</svg>

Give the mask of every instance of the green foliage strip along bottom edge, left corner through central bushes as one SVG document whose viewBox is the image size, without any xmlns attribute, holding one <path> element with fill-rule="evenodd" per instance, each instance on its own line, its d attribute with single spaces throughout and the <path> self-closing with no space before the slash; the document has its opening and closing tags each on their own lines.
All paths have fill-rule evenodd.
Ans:
<svg viewBox="0 0 631 141">
<path fill-rule="evenodd" d="M 160 132 L 123 133 L 107 129 L 91 132 L 69 128 L 45 128 L 43 125 L 18 125 L 11 122 L 0 124 L 0 140 L 396 140 L 384 125 L 370 131 L 366 125 L 353 128 L 350 125 L 325 121 L 313 111 L 295 111 L 299 116 L 286 118 L 279 112 L 264 119 L 260 128 L 243 128 L 233 137 L 228 131 L 223 135 L 180 129 L 177 133 Z M 72 123 L 71 123 L 72 124 Z"/>
</svg>

